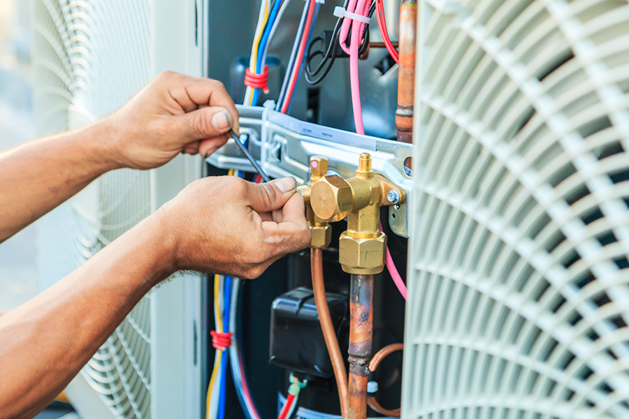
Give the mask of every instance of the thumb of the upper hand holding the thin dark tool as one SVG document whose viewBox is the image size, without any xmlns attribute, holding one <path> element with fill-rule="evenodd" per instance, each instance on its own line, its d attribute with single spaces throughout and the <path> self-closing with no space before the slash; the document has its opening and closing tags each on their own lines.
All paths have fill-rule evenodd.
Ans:
<svg viewBox="0 0 629 419">
<path fill-rule="evenodd" d="M 219 106 L 193 110 L 178 118 L 182 123 L 186 142 L 217 137 L 229 131 L 234 121 L 232 115 Z"/>
</svg>

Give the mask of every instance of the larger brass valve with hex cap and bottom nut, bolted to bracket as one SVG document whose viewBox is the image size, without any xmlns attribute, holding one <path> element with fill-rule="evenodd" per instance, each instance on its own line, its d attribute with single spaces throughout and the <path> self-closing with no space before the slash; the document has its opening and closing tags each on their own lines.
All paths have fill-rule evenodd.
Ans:
<svg viewBox="0 0 629 419">
<path fill-rule="evenodd" d="M 321 177 L 309 193 L 310 207 L 321 221 L 340 221 L 347 216 L 347 230 L 339 240 L 339 262 L 345 272 L 372 275 L 384 269 L 386 235 L 380 231 L 380 207 L 393 205 L 387 198 L 397 191 L 403 203 L 405 192 L 371 168 L 371 156 L 361 154 L 356 176 L 342 179 Z"/>
</svg>

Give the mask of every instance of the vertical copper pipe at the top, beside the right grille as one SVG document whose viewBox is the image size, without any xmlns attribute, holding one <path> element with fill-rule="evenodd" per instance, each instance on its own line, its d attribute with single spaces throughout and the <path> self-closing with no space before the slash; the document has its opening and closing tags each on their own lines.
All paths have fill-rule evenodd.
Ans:
<svg viewBox="0 0 629 419">
<path fill-rule="evenodd" d="M 400 69 L 398 71 L 398 141 L 413 142 L 413 103 L 415 90 L 415 38 L 417 36 L 417 0 L 400 4 Z"/>
</svg>

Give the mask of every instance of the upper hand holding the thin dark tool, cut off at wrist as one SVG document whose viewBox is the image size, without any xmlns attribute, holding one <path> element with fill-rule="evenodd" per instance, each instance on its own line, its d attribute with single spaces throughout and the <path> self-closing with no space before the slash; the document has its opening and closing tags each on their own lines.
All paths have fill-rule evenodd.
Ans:
<svg viewBox="0 0 629 419">
<path fill-rule="evenodd" d="M 181 152 L 209 156 L 238 132 L 238 111 L 221 82 L 165 71 L 104 123 L 117 166 L 150 169 Z"/>
</svg>

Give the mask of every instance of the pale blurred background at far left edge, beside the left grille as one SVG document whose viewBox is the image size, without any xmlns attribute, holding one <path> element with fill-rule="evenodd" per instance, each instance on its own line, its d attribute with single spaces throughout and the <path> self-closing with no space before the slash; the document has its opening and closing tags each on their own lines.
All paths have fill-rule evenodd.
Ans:
<svg viewBox="0 0 629 419">
<path fill-rule="evenodd" d="M 34 137 L 29 1 L 0 0 L 0 150 Z M 36 293 L 36 229 L 0 244 L 0 312 Z"/>
</svg>

